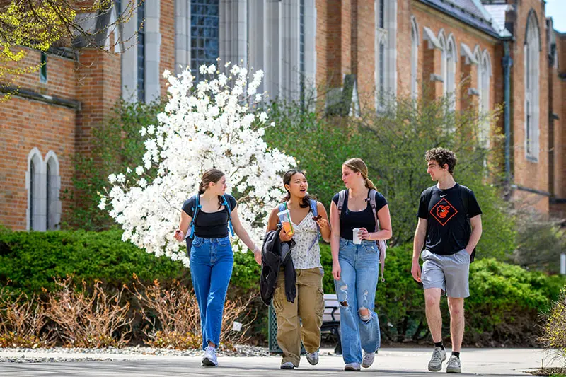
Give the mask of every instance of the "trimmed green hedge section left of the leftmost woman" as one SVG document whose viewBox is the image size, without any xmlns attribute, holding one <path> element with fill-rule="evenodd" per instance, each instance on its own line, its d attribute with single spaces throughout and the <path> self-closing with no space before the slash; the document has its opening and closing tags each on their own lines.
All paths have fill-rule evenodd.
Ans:
<svg viewBox="0 0 566 377">
<path fill-rule="evenodd" d="M 187 281 L 180 262 L 155 257 L 121 240 L 122 231 L 0 232 L 0 284 L 41 294 L 56 288 L 54 277 L 74 275 L 88 284 L 99 279 L 106 287 L 118 288 L 132 282 L 158 279 Z"/>
</svg>

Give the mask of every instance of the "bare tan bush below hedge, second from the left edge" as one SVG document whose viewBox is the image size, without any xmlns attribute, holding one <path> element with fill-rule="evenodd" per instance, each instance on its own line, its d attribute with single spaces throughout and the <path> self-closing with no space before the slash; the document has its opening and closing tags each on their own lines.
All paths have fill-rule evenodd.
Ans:
<svg viewBox="0 0 566 377">
<path fill-rule="evenodd" d="M 65 347 L 125 346 L 133 318 L 129 303 L 122 303 L 123 288 L 111 295 L 100 281 L 94 282 L 91 293 L 84 281 L 82 290 L 77 290 L 71 277 L 56 283 L 60 290 L 47 294 L 45 305 Z"/>
</svg>

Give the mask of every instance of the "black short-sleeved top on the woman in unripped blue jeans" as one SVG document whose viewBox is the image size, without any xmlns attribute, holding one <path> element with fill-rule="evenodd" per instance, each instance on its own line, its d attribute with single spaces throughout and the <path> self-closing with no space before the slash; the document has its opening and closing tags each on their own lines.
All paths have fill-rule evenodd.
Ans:
<svg viewBox="0 0 566 377">
<path fill-rule="evenodd" d="M 236 199 L 228 194 L 226 194 L 226 199 L 233 211 L 236 208 Z M 182 209 L 192 218 L 196 204 L 197 197 L 195 195 L 185 200 Z M 190 228 L 187 235 L 190 235 Z M 199 209 L 197 219 L 195 219 L 195 235 L 202 238 L 224 238 L 228 236 L 228 211 L 226 208 L 222 207 L 222 209 L 210 213 L 202 211 L 202 208 Z"/>
</svg>

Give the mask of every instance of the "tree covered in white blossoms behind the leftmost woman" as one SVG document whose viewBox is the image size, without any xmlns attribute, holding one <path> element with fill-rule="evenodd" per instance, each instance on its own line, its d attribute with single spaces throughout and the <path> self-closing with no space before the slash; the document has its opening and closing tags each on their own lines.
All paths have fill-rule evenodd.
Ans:
<svg viewBox="0 0 566 377">
<path fill-rule="evenodd" d="M 248 83 L 247 69 L 224 68 L 229 72 L 201 66 L 200 73 L 209 80 L 196 86 L 188 69 L 177 76 L 163 73 L 169 100 L 158 124 L 140 130 L 147 137 L 143 161 L 111 174 L 112 187 L 98 206 L 121 224 L 122 240 L 187 267 L 185 244 L 173 239 L 173 231 L 181 205 L 196 194 L 204 170 L 217 168 L 226 174 L 228 191 L 238 193 L 242 224 L 257 243 L 265 233 L 267 214 L 284 194 L 281 173 L 295 163 L 262 139 L 267 114 L 253 104 L 262 100 L 256 91 L 263 72 L 255 71 Z"/>
</svg>

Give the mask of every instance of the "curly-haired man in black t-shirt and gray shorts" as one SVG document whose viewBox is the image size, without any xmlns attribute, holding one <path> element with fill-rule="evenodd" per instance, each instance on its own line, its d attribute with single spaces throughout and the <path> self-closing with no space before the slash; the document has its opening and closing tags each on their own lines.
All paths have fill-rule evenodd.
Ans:
<svg viewBox="0 0 566 377">
<path fill-rule="evenodd" d="M 418 225 L 412 252 L 412 277 L 424 286 L 424 302 L 434 351 L 429 371 L 440 371 L 446 360 L 442 344 L 440 297 L 448 296 L 452 355 L 446 372 L 461 373 L 460 347 L 464 333 L 464 298 L 470 296 L 470 258 L 482 235 L 481 209 L 468 187 L 458 185 L 452 174 L 454 152 L 434 148 L 425 153 L 427 173 L 437 185 L 420 197 Z M 422 258 L 422 272 L 419 264 Z"/>
</svg>

